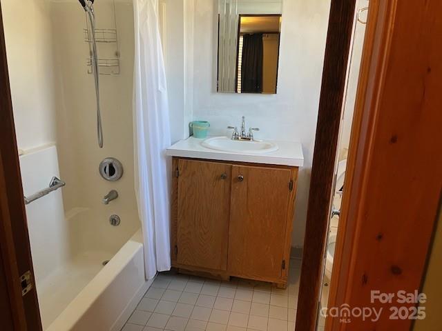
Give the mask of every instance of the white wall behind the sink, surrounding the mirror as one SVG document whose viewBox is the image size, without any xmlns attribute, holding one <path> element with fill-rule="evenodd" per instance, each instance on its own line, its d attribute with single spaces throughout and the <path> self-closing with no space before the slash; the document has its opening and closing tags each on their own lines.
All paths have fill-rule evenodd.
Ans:
<svg viewBox="0 0 442 331">
<path fill-rule="evenodd" d="M 305 165 L 299 173 L 292 241 L 293 246 L 302 246 L 330 1 L 283 1 L 275 95 L 215 92 L 217 0 L 193 0 L 191 5 L 189 2 L 192 1 L 184 1 L 195 10 L 186 11 L 186 6 L 183 10 L 192 28 L 187 30 L 186 38 L 193 43 L 185 48 L 184 72 L 187 70 L 192 76 L 192 86 L 187 87 L 192 101 L 191 108 L 184 112 L 191 112 L 192 119 L 210 121 L 210 134 L 228 134 L 226 127 L 239 126 L 244 115 L 247 126 L 261 128 L 256 134 L 258 138 L 302 143 Z M 170 32 L 168 38 L 173 38 Z M 189 36 L 191 32 L 193 35 Z M 174 90 L 169 88 L 169 92 L 173 94 Z"/>
</svg>

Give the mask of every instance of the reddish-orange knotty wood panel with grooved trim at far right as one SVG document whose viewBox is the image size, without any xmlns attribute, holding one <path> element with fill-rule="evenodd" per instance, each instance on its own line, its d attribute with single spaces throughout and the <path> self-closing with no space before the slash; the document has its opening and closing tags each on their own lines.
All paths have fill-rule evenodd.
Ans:
<svg viewBox="0 0 442 331">
<path fill-rule="evenodd" d="M 434 15 L 437 17 L 442 6 L 436 0 L 427 1 L 425 6 L 408 5 L 412 5 L 412 3 L 403 3 L 398 0 L 373 1 L 373 3 L 370 3 L 329 307 L 338 307 L 343 303 L 376 307 L 376 304 L 370 303 L 370 298 L 367 295 L 361 295 L 361 288 L 364 283 L 371 284 L 370 279 L 374 278 L 370 273 L 373 270 L 372 265 L 381 265 L 385 270 L 385 272 L 376 274 L 376 279 L 390 282 L 394 280 L 394 286 L 390 285 L 389 288 L 383 289 L 374 288 L 374 290 L 395 292 L 396 288 L 401 288 L 407 292 L 412 292 L 421 288 L 421 280 L 425 272 L 423 261 L 425 261 L 432 241 L 432 231 L 436 223 L 442 186 L 440 180 L 441 157 L 436 154 L 442 143 L 437 128 L 430 126 L 430 122 L 442 123 L 441 98 L 439 96 L 438 99 L 436 92 L 441 89 L 441 66 L 437 66 L 436 57 L 440 59 L 442 48 L 429 41 L 432 40 L 431 37 L 434 38 L 442 32 L 441 23 L 434 23 L 437 21 L 437 19 L 434 19 Z M 410 33 L 410 31 L 415 34 Z M 416 37 L 416 34 L 419 37 Z M 427 38 L 422 39 L 423 45 L 420 45 L 422 49 L 417 45 L 410 48 L 410 41 L 421 40 L 421 36 Z M 425 52 L 428 53 L 425 56 L 422 55 L 422 52 L 424 52 L 423 46 L 427 46 Z M 403 63 L 398 63 L 397 54 L 398 52 L 405 54 L 403 50 L 408 50 L 407 59 L 404 59 Z M 430 50 L 432 53 L 430 53 Z M 395 54 L 396 57 L 394 57 Z M 402 72 L 405 66 L 407 66 L 407 75 L 401 77 L 398 72 Z M 393 81 L 393 79 L 396 80 Z M 439 85 L 434 83 L 436 79 L 439 79 Z M 396 83 L 396 86 L 407 86 L 407 92 L 402 93 L 401 97 L 394 94 L 392 92 L 392 82 Z M 397 90 L 400 89 L 397 88 Z M 415 95 L 419 95 L 419 98 L 421 98 L 419 103 L 416 102 L 418 98 Z M 404 108 L 401 106 L 397 108 L 387 107 L 389 101 L 390 103 L 397 102 L 399 104 L 399 98 L 411 106 Z M 415 115 L 411 117 L 410 113 Z M 397 123 L 389 121 L 386 124 L 384 117 L 387 114 L 390 114 L 390 117 L 392 114 L 396 114 L 396 117 L 401 118 L 401 121 Z M 425 144 L 430 143 L 428 137 L 423 137 L 424 135 L 417 135 L 416 137 L 416 134 L 412 132 L 404 134 L 403 127 L 400 126 L 401 123 L 403 125 L 407 124 L 413 132 L 425 130 L 426 133 L 431 134 L 431 137 L 434 137 L 431 141 L 434 144 L 434 154 L 430 154 L 429 150 L 423 148 Z M 407 137 L 413 139 L 408 138 L 406 140 Z M 425 197 L 423 199 L 426 203 L 425 208 L 422 208 L 421 204 L 394 205 L 394 203 L 390 203 L 389 208 L 384 208 L 382 211 L 387 213 L 392 210 L 400 210 L 400 208 L 401 210 L 407 210 L 405 216 L 401 215 L 403 216 L 401 217 L 401 228 L 405 229 L 401 232 L 402 241 L 387 236 L 384 233 L 384 230 L 387 230 L 387 225 L 381 227 L 373 219 L 370 220 L 368 214 L 370 203 L 373 205 L 373 201 L 369 201 L 370 195 L 367 193 L 369 188 L 372 188 L 370 184 L 372 183 L 373 174 L 376 172 L 378 176 L 383 176 L 386 179 L 386 186 L 382 190 L 391 188 L 391 186 L 387 186 L 387 178 L 391 177 L 392 174 L 387 173 L 387 170 L 382 171 L 383 168 L 378 167 L 379 162 L 374 163 L 376 162 L 376 154 L 382 152 L 379 146 L 383 139 L 385 139 L 385 146 L 388 146 L 388 144 L 398 146 L 396 148 L 391 147 L 391 153 L 396 152 L 394 154 L 395 159 L 386 164 L 396 165 L 396 169 L 400 169 L 402 172 L 406 171 L 410 174 L 410 177 L 414 176 L 414 169 L 416 169 L 412 162 L 404 162 L 409 157 L 407 153 L 410 150 L 415 151 L 412 157 L 409 157 L 413 160 L 424 161 L 430 155 L 433 155 L 432 162 L 427 161 L 427 164 L 423 167 L 425 173 L 419 177 L 419 180 L 414 181 L 413 189 L 410 188 L 412 181 L 404 178 L 399 185 L 394 186 L 394 191 L 390 191 L 390 194 L 396 193 L 396 197 L 406 194 L 412 196 L 412 194 L 421 192 Z M 405 146 L 403 146 L 403 150 L 397 152 L 403 141 L 407 141 L 407 148 L 405 149 Z M 429 185 L 429 183 L 431 184 Z M 370 192 L 374 192 L 373 188 Z M 378 197 L 383 199 L 381 189 L 378 189 L 378 193 Z M 376 208 L 372 207 L 372 210 L 376 210 Z M 416 216 L 413 216 L 418 214 L 419 220 Z M 388 223 L 388 221 L 398 220 L 384 219 L 383 221 Z M 416 230 L 417 227 L 419 227 L 419 231 Z M 367 229 L 370 230 L 367 231 Z M 396 254 L 392 254 L 391 257 L 387 258 L 381 254 L 378 254 L 378 256 L 376 254 L 369 254 L 369 256 L 363 254 L 363 257 L 361 257 L 358 252 L 363 247 L 363 240 L 367 241 L 367 239 L 371 240 L 374 247 L 378 243 L 377 245 L 383 245 L 383 250 L 387 248 L 394 252 L 396 249 Z M 410 250 L 407 251 L 407 248 L 405 248 L 405 242 L 414 243 L 415 241 L 419 241 L 419 244 L 412 249 L 415 262 L 413 268 L 410 268 L 407 263 L 410 259 Z M 376 263 L 372 261 L 374 257 L 377 258 Z M 387 261 L 387 259 L 391 261 Z M 365 270 L 364 274 L 361 274 L 361 269 Z M 369 285 L 367 287 L 371 288 Z M 356 289 L 359 289 L 359 292 L 356 292 Z M 389 308 L 389 305 L 384 305 L 384 308 Z M 394 327 L 398 330 L 408 330 L 412 325 L 411 322 L 409 320 L 398 321 Z M 391 321 L 388 319 L 381 319 L 376 323 L 376 326 L 367 323 L 367 328 L 371 327 L 392 330 Z M 352 324 L 347 325 L 339 323 L 338 319 L 327 318 L 326 330 L 352 330 L 353 328 Z"/>
</svg>

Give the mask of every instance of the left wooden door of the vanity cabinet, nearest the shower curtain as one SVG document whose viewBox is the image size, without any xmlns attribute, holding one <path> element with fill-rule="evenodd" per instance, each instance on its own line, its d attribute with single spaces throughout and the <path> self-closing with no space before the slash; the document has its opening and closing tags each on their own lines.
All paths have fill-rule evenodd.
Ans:
<svg viewBox="0 0 442 331">
<path fill-rule="evenodd" d="M 231 165 L 180 159 L 177 262 L 227 270 Z"/>
</svg>

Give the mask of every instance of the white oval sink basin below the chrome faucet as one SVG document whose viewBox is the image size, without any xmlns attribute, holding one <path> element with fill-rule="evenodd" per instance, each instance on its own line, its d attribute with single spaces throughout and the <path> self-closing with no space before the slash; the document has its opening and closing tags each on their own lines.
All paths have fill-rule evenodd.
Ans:
<svg viewBox="0 0 442 331">
<path fill-rule="evenodd" d="M 278 150 L 278 145 L 270 141 L 232 140 L 227 137 L 209 138 L 202 141 L 201 145 L 211 150 L 244 154 L 263 154 Z"/>
</svg>

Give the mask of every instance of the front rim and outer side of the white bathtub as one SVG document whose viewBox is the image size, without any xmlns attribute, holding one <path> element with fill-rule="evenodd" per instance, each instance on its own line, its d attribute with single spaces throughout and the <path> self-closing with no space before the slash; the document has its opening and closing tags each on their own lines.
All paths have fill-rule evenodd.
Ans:
<svg viewBox="0 0 442 331">
<path fill-rule="evenodd" d="M 139 230 L 46 330 L 119 331 L 152 281 L 144 279 Z"/>
</svg>

